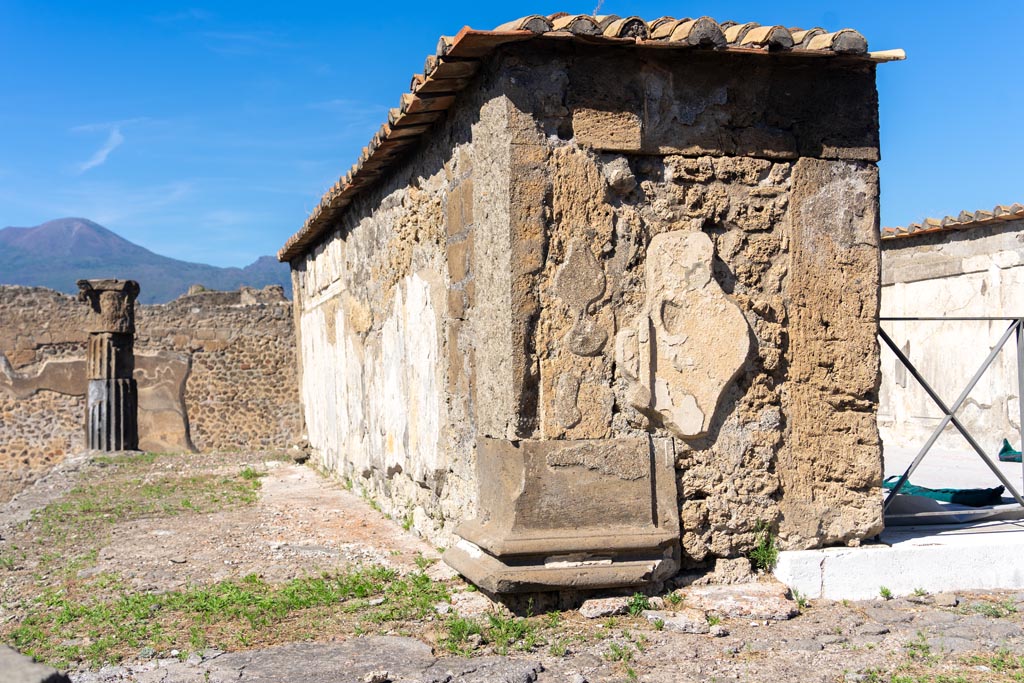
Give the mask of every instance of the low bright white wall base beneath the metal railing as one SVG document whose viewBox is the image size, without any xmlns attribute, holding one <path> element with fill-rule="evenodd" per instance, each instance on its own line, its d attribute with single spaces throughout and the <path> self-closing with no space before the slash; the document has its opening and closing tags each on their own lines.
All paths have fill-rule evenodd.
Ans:
<svg viewBox="0 0 1024 683">
<path fill-rule="evenodd" d="M 779 553 L 775 578 L 808 598 L 867 600 L 893 595 L 1024 589 L 1024 521 L 970 527 L 903 526 L 881 544 Z"/>
</svg>

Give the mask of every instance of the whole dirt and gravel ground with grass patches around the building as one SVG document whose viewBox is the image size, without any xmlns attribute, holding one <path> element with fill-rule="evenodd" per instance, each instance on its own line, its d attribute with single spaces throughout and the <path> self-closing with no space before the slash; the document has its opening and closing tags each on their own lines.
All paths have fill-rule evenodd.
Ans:
<svg viewBox="0 0 1024 683">
<path fill-rule="evenodd" d="M 1024 595 L 712 610 L 714 628 L 700 611 L 699 634 L 517 618 L 337 482 L 259 454 L 71 461 L 0 512 L 0 634 L 80 683 L 1024 680 Z M 684 611 L 693 590 L 650 606 Z"/>
</svg>

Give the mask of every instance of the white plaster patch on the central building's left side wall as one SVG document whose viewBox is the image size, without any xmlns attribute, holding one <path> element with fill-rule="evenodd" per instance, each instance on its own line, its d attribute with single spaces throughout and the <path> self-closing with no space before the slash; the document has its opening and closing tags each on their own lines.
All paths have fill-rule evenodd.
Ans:
<svg viewBox="0 0 1024 683">
<path fill-rule="evenodd" d="M 309 442 L 330 470 L 341 472 L 347 462 L 356 473 L 404 471 L 423 480 L 440 466 L 438 332 L 430 286 L 419 274 L 406 276 L 379 331 L 365 338 L 346 319 L 342 294 L 316 297 L 319 305 L 300 317 Z"/>
</svg>

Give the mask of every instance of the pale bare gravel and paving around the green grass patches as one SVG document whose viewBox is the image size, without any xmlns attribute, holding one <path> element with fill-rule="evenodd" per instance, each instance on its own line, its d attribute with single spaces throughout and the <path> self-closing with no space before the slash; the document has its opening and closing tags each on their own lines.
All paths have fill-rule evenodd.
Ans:
<svg viewBox="0 0 1024 683">
<path fill-rule="evenodd" d="M 154 516 L 115 523 L 109 543 L 95 562 L 81 570 L 81 578 L 117 572 L 133 590 L 163 592 L 251 573 L 283 582 L 360 563 L 415 571 L 424 558 L 437 558 L 435 549 L 307 467 L 264 462 L 259 454 L 194 456 L 175 467 L 182 472 L 238 471 L 246 463 L 265 472 L 254 505 L 186 518 Z M 2 544 L 28 543 L 27 535 L 38 533 L 32 524 L 24 524 L 31 511 L 59 501 L 96 467 L 86 458 L 70 460 L 0 510 Z M 1024 594 L 814 601 L 801 610 L 791 601 L 783 611 L 792 611 L 792 618 L 778 609 L 770 614 L 774 618 L 762 618 L 765 614 L 749 610 L 712 608 L 714 624 L 698 624 L 705 633 L 673 630 L 685 622 L 687 612 L 657 598 L 653 607 L 678 616 L 606 615 L 616 606 L 624 608 L 627 601 L 620 599 L 604 611 L 585 609 L 596 612 L 594 618 L 575 609 L 548 615 L 552 625 L 539 627 L 543 644 L 532 649 L 523 651 L 520 644 L 499 656 L 494 644 L 470 639 L 472 655 L 457 657 L 439 644 L 445 618 L 458 613 L 485 620 L 488 612 L 508 612 L 480 593 L 466 591 L 441 563 L 431 564 L 428 572 L 450 584 L 453 603 L 438 605 L 436 617 L 407 624 L 394 633 L 324 633 L 311 642 L 237 652 L 143 652 L 102 668 L 81 665 L 70 672 L 71 678 L 80 683 L 1024 680 Z M 38 590 L 41 580 L 32 566 L 0 569 L 0 579 L 2 625 L 18 618 L 19 600 Z M 753 595 L 757 604 L 764 584 L 735 584 L 728 590 L 740 598 Z M 689 602 L 695 599 L 694 594 Z M 684 599 L 681 605 L 686 604 Z"/>
</svg>

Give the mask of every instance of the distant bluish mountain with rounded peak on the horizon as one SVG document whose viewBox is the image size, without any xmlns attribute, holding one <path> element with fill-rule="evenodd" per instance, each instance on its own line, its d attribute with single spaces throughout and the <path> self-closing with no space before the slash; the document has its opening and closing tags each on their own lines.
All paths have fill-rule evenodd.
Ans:
<svg viewBox="0 0 1024 683">
<path fill-rule="evenodd" d="M 261 256 L 244 268 L 178 261 L 154 254 L 85 218 L 0 229 L 0 285 L 75 293 L 75 283 L 90 278 L 138 281 L 141 303 L 166 303 L 184 294 L 190 285 L 208 290 L 281 285 L 285 294 L 292 296 L 289 266 L 272 256 Z"/>
</svg>

